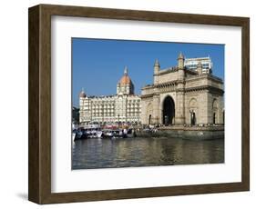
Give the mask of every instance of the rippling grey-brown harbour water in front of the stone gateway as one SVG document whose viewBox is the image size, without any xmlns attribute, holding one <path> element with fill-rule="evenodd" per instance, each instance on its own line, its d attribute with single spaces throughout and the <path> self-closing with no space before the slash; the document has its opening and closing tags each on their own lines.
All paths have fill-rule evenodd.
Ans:
<svg viewBox="0 0 256 209">
<path fill-rule="evenodd" d="M 224 163 L 224 140 L 169 138 L 77 140 L 72 169 Z"/>
</svg>

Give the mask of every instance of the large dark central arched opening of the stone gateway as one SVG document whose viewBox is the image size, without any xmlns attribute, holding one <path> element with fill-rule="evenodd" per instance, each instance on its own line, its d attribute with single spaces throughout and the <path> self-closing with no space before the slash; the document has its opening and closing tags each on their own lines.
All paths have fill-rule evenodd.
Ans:
<svg viewBox="0 0 256 209">
<path fill-rule="evenodd" d="M 170 96 L 167 96 L 163 102 L 163 124 L 174 124 L 175 104 Z"/>
</svg>

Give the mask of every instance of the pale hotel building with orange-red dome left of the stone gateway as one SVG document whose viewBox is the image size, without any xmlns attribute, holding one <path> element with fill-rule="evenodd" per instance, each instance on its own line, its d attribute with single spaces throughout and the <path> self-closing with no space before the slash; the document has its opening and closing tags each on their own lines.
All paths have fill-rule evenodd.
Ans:
<svg viewBox="0 0 256 209">
<path fill-rule="evenodd" d="M 79 95 L 80 124 L 88 123 L 140 123 L 141 99 L 134 94 L 134 85 L 128 76 L 128 68 L 118 82 L 117 95 Z"/>
</svg>

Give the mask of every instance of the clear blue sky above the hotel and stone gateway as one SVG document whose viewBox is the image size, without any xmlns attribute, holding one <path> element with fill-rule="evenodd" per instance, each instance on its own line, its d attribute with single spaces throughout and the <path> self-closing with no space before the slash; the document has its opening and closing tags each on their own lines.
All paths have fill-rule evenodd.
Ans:
<svg viewBox="0 0 256 209">
<path fill-rule="evenodd" d="M 161 69 L 175 66 L 179 52 L 187 58 L 210 55 L 213 75 L 224 80 L 224 45 L 72 38 L 73 105 L 82 88 L 87 95 L 115 95 L 126 65 L 140 95 L 141 87 L 152 84 L 155 60 Z"/>
</svg>

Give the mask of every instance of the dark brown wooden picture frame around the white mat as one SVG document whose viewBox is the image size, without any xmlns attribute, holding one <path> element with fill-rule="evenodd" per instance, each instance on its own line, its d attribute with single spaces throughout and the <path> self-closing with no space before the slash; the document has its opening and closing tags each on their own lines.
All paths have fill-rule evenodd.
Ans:
<svg viewBox="0 0 256 209">
<path fill-rule="evenodd" d="M 51 15 L 233 25 L 242 29 L 241 183 L 197 184 L 93 192 L 51 193 Z M 250 20 L 246 17 L 190 15 L 67 5 L 29 8 L 29 169 L 28 199 L 37 204 L 248 191 L 250 189 Z"/>
</svg>

